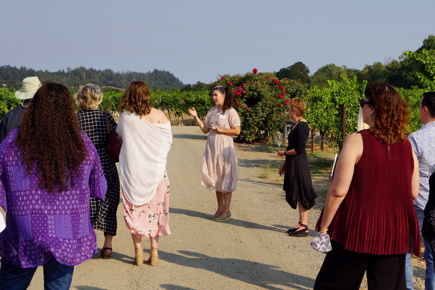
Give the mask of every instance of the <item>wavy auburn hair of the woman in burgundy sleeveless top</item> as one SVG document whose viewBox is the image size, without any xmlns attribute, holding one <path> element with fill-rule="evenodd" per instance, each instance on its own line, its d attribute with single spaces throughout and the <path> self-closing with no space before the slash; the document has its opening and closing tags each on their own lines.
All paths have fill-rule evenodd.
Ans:
<svg viewBox="0 0 435 290">
<path fill-rule="evenodd" d="M 411 113 L 406 103 L 395 88 L 385 83 L 373 83 L 365 88 L 365 97 L 376 111 L 375 125 L 370 128 L 377 139 L 384 144 L 394 144 L 407 140 L 405 130 Z"/>
</svg>

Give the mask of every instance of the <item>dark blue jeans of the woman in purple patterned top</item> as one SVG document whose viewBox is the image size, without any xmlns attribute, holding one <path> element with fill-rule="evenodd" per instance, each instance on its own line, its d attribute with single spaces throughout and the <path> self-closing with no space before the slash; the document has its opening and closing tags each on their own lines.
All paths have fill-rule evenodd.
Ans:
<svg viewBox="0 0 435 290">
<path fill-rule="evenodd" d="M 1 259 L 0 290 L 25 290 L 30 285 L 37 267 L 21 268 Z M 43 265 L 44 290 L 69 290 L 73 280 L 74 266 L 57 262 L 52 257 Z"/>
</svg>

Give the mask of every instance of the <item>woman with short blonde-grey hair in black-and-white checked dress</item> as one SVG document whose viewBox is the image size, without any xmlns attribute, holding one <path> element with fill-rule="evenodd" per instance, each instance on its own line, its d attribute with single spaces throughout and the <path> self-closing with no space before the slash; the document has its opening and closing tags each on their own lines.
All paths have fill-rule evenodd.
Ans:
<svg viewBox="0 0 435 290">
<path fill-rule="evenodd" d="M 103 111 L 98 110 L 98 105 L 103 100 L 103 94 L 100 87 L 88 83 L 80 89 L 74 99 L 81 109 L 77 112 L 77 119 L 82 130 L 97 149 L 104 177 L 107 180 L 107 192 L 104 201 L 90 198 L 90 223 L 92 223 L 94 229 L 104 231 L 104 245 L 100 254 L 104 259 L 109 259 L 112 253 L 112 238 L 116 236 L 116 210 L 119 204 L 120 186 L 116 164 L 110 158 L 106 148 L 109 142 L 106 117 Z M 109 113 L 107 113 L 107 117 L 113 132 L 116 133 L 117 123 Z"/>
</svg>

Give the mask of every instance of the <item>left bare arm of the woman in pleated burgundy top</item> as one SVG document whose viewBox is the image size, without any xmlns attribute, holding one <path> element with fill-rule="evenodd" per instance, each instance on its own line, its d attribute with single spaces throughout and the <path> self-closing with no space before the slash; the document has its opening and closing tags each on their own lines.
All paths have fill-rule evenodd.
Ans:
<svg viewBox="0 0 435 290">
<path fill-rule="evenodd" d="M 334 179 L 329 187 L 325 200 L 323 217 L 319 230 L 326 230 L 329 227 L 341 202 L 348 193 L 356 162 L 361 157 L 363 143 L 361 134 L 350 135 L 335 165 Z"/>
</svg>

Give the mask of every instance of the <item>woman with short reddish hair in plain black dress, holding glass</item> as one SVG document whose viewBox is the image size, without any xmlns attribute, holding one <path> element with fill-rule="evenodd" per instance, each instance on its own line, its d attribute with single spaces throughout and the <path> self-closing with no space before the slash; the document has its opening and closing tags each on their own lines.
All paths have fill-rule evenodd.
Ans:
<svg viewBox="0 0 435 290">
<path fill-rule="evenodd" d="M 311 182 L 305 143 L 310 133 L 307 121 L 302 117 L 306 103 L 299 98 L 288 102 L 288 114 L 294 120 L 294 125 L 288 134 L 288 146 L 285 151 L 278 151 L 279 156 L 285 156 L 285 161 L 279 168 L 279 175 L 284 174 L 285 200 L 294 209 L 299 209 L 298 225 L 287 230 L 291 237 L 307 237 L 308 210 L 315 205 L 316 192 Z"/>
</svg>

